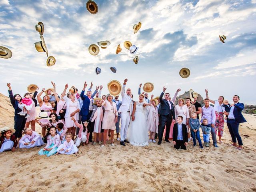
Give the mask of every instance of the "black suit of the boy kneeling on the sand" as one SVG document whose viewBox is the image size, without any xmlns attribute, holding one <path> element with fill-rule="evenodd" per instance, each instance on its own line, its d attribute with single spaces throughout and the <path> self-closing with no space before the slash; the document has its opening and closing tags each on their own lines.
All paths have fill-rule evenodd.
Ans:
<svg viewBox="0 0 256 192">
<path fill-rule="evenodd" d="M 188 133 L 187 133 L 187 127 L 185 124 L 182 123 L 182 137 L 183 140 L 178 140 L 178 123 L 175 123 L 173 126 L 173 132 L 172 132 L 172 140 L 176 142 L 176 145 L 174 145 L 174 148 L 179 149 L 185 149 L 185 142 L 188 142 Z"/>
</svg>

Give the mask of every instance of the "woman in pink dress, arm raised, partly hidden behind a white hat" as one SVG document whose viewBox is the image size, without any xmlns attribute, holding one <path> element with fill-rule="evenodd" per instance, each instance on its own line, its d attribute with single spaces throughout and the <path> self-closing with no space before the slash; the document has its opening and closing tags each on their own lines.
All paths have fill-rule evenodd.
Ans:
<svg viewBox="0 0 256 192">
<path fill-rule="evenodd" d="M 41 99 L 41 95 L 44 93 L 44 88 L 42 91 L 37 95 L 37 100 L 40 106 L 41 112 L 47 112 L 48 116 L 50 113 L 52 113 L 52 104 L 49 103 L 50 97 L 48 95 L 45 95 L 43 97 L 43 100 Z M 40 122 L 44 123 L 47 122 L 47 119 L 40 119 Z M 42 127 L 42 126 L 41 126 Z M 42 136 L 45 136 L 46 127 L 42 127 Z"/>
</svg>

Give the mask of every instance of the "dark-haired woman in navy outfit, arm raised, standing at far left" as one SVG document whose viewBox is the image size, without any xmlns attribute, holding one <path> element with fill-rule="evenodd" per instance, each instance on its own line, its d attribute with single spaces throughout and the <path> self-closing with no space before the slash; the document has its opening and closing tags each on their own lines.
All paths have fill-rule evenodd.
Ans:
<svg viewBox="0 0 256 192">
<path fill-rule="evenodd" d="M 25 116 L 21 116 L 20 114 L 18 114 L 23 110 L 22 108 L 20 108 L 20 101 L 22 100 L 22 97 L 20 96 L 20 94 L 15 94 L 13 96 L 11 84 L 7 83 L 7 86 L 9 88 L 8 90 L 9 98 L 14 108 L 14 129 L 15 129 L 14 136 L 20 139 L 22 137 L 22 131 L 24 130 L 24 127 L 26 124 Z"/>
</svg>

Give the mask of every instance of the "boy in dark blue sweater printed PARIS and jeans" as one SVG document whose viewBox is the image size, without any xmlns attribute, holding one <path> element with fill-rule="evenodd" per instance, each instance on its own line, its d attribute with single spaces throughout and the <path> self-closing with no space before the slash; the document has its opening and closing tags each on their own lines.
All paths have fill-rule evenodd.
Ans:
<svg viewBox="0 0 256 192">
<path fill-rule="evenodd" d="M 203 149 L 201 138 L 200 138 L 200 122 L 199 119 L 196 118 L 196 112 L 192 112 L 192 118 L 189 119 L 190 124 L 190 132 L 193 138 L 193 146 L 196 146 L 196 139 L 198 140 L 199 147 Z"/>
</svg>

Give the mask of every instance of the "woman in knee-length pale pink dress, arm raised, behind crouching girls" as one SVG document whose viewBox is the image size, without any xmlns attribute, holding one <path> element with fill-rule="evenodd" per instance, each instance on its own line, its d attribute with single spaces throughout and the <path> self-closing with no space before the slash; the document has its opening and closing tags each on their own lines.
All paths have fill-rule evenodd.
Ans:
<svg viewBox="0 0 256 192">
<path fill-rule="evenodd" d="M 71 119 L 74 117 L 76 121 L 79 120 L 79 111 L 80 111 L 80 103 L 76 100 L 76 96 L 74 93 L 70 93 L 70 99 L 66 96 L 66 90 L 68 88 L 68 84 L 65 85 L 65 88 L 61 94 L 62 98 L 65 100 L 67 105 L 67 110 L 65 114 L 65 125 L 68 128 L 68 133 L 72 133 L 72 139 L 74 140 L 74 136 L 76 133 L 76 124 Z"/>
</svg>

